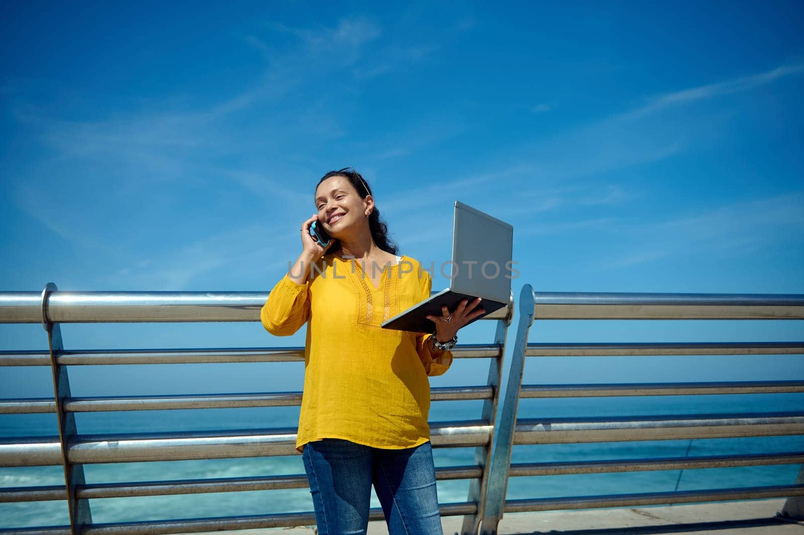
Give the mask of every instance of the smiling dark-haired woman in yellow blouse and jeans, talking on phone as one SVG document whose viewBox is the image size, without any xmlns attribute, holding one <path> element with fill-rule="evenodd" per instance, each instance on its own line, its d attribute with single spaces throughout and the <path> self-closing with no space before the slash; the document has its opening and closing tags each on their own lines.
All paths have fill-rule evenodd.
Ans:
<svg viewBox="0 0 804 535">
<path fill-rule="evenodd" d="M 296 447 L 318 533 L 366 533 L 372 484 L 390 535 L 442 533 L 427 376 L 449 369 L 457 330 L 485 311 L 479 298 L 464 300 L 428 316 L 433 334 L 382 329 L 430 296 L 429 272 L 396 255 L 371 189 L 354 169 L 325 174 L 315 206 L 301 226 L 301 255 L 260 317 L 277 336 L 308 324 Z M 326 248 L 310 235 L 314 221 L 332 236 Z"/>
</svg>

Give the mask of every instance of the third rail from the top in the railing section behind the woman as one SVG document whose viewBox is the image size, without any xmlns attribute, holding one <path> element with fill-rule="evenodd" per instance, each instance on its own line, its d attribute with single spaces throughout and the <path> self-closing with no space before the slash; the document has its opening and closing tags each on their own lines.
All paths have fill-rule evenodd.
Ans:
<svg viewBox="0 0 804 535">
<path fill-rule="evenodd" d="M 430 389 L 430 401 L 490 399 L 491 386 L 441 386 Z M 66 412 L 105 412 L 117 410 L 220 409 L 253 406 L 300 406 L 301 392 L 252 394 L 205 394 L 66 398 Z M 55 412 L 50 398 L 19 398 L 0 401 L 0 415 Z"/>
</svg>

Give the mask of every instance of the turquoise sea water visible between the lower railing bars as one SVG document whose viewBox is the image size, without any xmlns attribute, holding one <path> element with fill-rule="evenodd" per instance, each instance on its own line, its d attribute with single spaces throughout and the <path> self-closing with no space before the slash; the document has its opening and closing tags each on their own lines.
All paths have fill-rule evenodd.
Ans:
<svg viewBox="0 0 804 535">
<path fill-rule="evenodd" d="M 802 410 L 804 394 L 526 399 L 519 417 L 626 416 Z M 481 402 L 433 402 L 430 421 L 477 419 Z M 76 415 L 80 434 L 295 427 L 298 407 Z M 3 415 L 0 435 L 54 435 L 55 415 Z M 514 447 L 514 463 L 804 451 L 804 436 Z M 436 466 L 472 464 L 474 448 L 438 448 Z M 511 478 L 508 499 L 792 484 L 801 465 Z M 301 456 L 86 465 L 88 483 L 303 474 Z M 0 486 L 63 484 L 61 467 L 0 468 Z M 468 481 L 439 481 L 441 503 L 466 500 Z M 311 511 L 307 489 L 91 500 L 95 522 Z M 374 498 L 372 506 L 379 507 Z M 64 501 L 0 504 L 2 528 L 68 523 Z"/>
</svg>

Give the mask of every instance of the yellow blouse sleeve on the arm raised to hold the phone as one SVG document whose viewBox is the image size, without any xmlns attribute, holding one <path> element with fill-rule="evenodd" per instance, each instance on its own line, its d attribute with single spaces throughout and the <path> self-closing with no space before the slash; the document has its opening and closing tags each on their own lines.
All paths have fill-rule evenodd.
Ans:
<svg viewBox="0 0 804 535">
<path fill-rule="evenodd" d="M 273 287 L 260 311 L 262 325 L 277 337 L 289 337 L 310 317 L 310 281 L 298 284 L 285 276 Z"/>
</svg>

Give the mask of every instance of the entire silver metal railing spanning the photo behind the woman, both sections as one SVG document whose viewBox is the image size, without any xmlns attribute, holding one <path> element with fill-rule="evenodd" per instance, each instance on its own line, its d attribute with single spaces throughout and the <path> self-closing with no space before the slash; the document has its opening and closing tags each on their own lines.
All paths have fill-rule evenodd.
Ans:
<svg viewBox="0 0 804 535">
<path fill-rule="evenodd" d="M 267 293 L 246 292 L 58 292 L 0 293 L 0 322 L 39 323 L 47 331 L 49 350 L 3 351 L 0 366 L 50 366 L 54 398 L 3 399 L 0 414 L 55 413 L 59 436 L 20 437 L 0 442 L 0 466 L 63 465 L 64 485 L 3 488 L 0 501 L 67 500 L 71 525 L 36 529 L 37 533 L 183 533 L 214 529 L 251 529 L 314 523 L 313 513 L 203 519 L 166 519 L 125 524 L 92 524 L 89 501 L 125 496 L 161 496 L 199 492 L 306 488 L 306 476 L 252 476 L 92 484 L 84 464 L 131 461 L 219 459 L 264 455 L 296 455 L 294 428 L 250 431 L 188 431 L 127 435 L 80 435 L 78 412 L 174 410 L 253 406 L 298 406 L 301 392 L 78 397 L 70 391 L 69 366 L 124 364 L 191 364 L 211 362 L 303 361 L 304 349 L 149 349 L 68 350 L 61 341 L 61 322 L 199 322 L 259 321 Z M 496 533 L 503 513 L 568 508 L 675 504 L 713 500 L 786 496 L 785 513 L 804 511 L 804 471 L 796 484 L 689 492 L 642 492 L 605 496 L 566 496 L 506 500 L 511 476 L 545 476 L 605 472 L 638 472 L 686 468 L 720 468 L 765 464 L 801 464 L 804 451 L 774 454 L 708 455 L 651 459 L 511 464 L 511 448 L 535 443 L 596 443 L 629 440 L 727 438 L 804 434 L 804 411 L 763 414 L 664 415 L 618 418 L 517 419 L 520 398 L 749 394 L 802 392 L 804 382 L 650 382 L 613 384 L 522 385 L 525 357 L 801 354 L 795 343 L 528 343 L 529 329 L 539 319 L 802 319 L 804 296 L 702 294 L 535 293 L 525 285 L 519 301 L 519 325 L 511 358 L 507 393 L 500 421 L 495 421 L 507 329 L 513 298 L 484 319 L 497 321 L 489 345 L 459 345 L 457 358 L 490 358 L 486 384 L 433 388 L 431 399 L 483 400 L 477 420 L 431 423 L 434 447 L 475 447 L 474 463 L 437 468 L 438 480 L 470 480 L 466 502 L 440 504 L 444 516 L 463 515 L 462 533 Z M 494 448 L 492 449 L 492 445 Z M 382 512 L 371 511 L 379 520 Z M 31 533 L 3 529 L 0 533 Z"/>
</svg>

